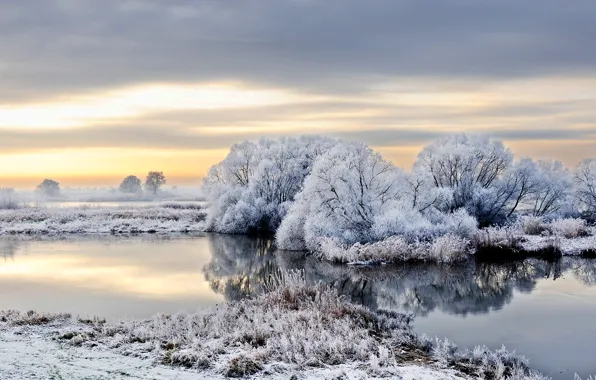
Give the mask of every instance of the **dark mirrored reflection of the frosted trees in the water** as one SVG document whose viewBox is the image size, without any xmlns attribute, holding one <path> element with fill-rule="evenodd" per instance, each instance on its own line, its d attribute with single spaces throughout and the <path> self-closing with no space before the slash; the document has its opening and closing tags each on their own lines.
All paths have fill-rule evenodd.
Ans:
<svg viewBox="0 0 596 380">
<path fill-rule="evenodd" d="M 353 302 L 372 309 L 416 316 L 435 309 L 464 316 L 499 310 L 511 302 L 515 291 L 530 293 L 539 279 L 556 280 L 567 272 L 586 285 L 596 285 L 596 260 L 589 259 L 350 267 L 276 251 L 263 239 L 229 235 L 208 235 L 207 239 L 213 256 L 203 268 L 205 278 L 230 301 L 261 292 L 280 269 L 304 270 L 309 282 L 330 284 Z"/>
</svg>

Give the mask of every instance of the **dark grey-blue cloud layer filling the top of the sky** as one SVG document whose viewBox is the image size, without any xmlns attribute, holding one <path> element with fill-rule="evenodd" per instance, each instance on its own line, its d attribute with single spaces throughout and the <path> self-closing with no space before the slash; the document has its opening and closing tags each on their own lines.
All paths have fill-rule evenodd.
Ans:
<svg viewBox="0 0 596 380">
<path fill-rule="evenodd" d="M 594 73 L 596 3 L 47 0 L 0 3 L 0 102 L 141 81 L 320 92 L 384 77 Z"/>
</svg>

